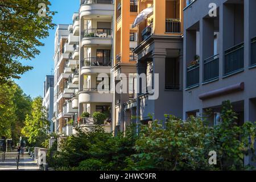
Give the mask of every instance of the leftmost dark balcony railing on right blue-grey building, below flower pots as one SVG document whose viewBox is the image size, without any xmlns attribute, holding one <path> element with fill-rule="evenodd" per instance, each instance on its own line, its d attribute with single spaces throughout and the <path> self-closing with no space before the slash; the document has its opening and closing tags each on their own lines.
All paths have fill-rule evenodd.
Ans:
<svg viewBox="0 0 256 182">
<path fill-rule="evenodd" d="M 187 68 L 187 88 L 199 84 L 199 63 Z"/>
</svg>

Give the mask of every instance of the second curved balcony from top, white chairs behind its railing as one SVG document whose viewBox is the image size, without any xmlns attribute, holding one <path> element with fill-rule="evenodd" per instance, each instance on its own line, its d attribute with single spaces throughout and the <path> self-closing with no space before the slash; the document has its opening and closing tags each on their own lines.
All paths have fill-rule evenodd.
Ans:
<svg viewBox="0 0 256 182">
<path fill-rule="evenodd" d="M 109 28 L 91 28 L 82 31 L 82 46 L 113 44 L 112 29 Z"/>
</svg>

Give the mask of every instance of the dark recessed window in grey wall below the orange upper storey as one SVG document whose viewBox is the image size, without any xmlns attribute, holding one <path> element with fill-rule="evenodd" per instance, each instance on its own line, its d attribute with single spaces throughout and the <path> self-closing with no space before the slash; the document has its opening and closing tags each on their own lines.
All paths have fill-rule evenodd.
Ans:
<svg viewBox="0 0 256 182">
<path fill-rule="evenodd" d="M 176 59 L 166 59 L 166 89 L 180 89 L 180 66 Z"/>
</svg>

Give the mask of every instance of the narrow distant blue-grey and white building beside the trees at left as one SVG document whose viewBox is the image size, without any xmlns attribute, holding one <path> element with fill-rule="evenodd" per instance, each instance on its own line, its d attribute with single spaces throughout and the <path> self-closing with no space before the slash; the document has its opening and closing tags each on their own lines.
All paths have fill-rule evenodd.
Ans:
<svg viewBox="0 0 256 182">
<path fill-rule="evenodd" d="M 49 133 L 54 132 L 53 118 L 53 98 L 54 98 L 54 76 L 47 75 L 44 81 L 43 106 L 47 109 L 48 121 L 50 122 Z"/>
</svg>

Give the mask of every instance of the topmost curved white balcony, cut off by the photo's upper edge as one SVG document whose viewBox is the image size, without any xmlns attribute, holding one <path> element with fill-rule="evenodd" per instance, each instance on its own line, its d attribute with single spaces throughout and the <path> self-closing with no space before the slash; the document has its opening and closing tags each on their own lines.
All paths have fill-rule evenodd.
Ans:
<svg viewBox="0 0 256 182">
<path fill-rule="evenodd" d="M 114 5 L 112 0 L 84 0 L 80 6 L 80 16 L 102 15 L 104 18 L 112 18 Z"/>
</svg>

